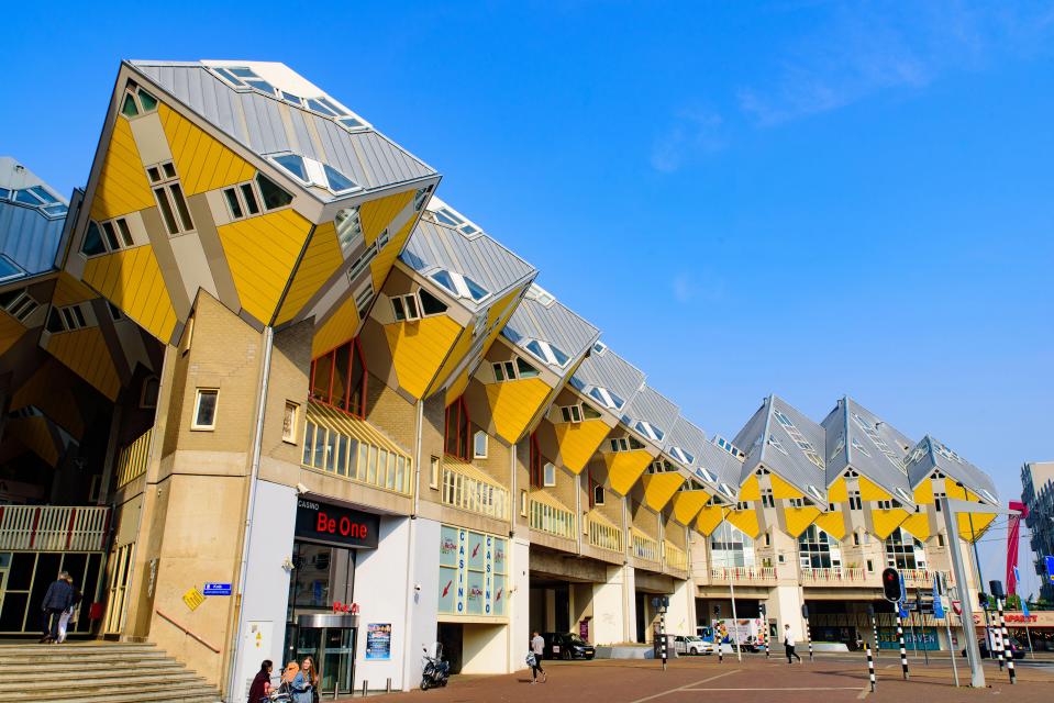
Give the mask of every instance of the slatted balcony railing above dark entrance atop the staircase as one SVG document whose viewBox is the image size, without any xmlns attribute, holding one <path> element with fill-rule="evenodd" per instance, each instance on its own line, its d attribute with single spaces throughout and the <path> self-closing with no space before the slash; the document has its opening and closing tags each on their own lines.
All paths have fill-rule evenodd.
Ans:
<svg viewBox="0 0 1054 703">
<path fill-rule="evenodd" d="M 0 505 L 0 551 L 102 551 L 106 506 Z"/>
</svg>

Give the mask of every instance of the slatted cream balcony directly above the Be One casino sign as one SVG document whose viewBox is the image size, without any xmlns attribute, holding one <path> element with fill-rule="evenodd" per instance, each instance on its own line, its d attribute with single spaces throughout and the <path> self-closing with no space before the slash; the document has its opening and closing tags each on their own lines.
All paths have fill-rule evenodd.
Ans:
<svg viewBox="0 0 1054 703">
<path fill-rule="evenodd" d="M 401 495 L 411 494 L 413 460 L 365 420 L 309 403 L 303 466 Z"/>
</svg>

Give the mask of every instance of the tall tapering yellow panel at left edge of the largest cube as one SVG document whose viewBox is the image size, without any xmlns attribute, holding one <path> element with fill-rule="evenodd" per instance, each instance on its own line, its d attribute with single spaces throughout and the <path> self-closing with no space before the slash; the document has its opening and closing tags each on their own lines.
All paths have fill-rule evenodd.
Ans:
<svg viewBox="0 0 1054 703">
<path fill-rule="evenodd" d="M 154 207 L 154 193 L 146 180 L 132 127 L 127 120 L 118 118 L 91 200 L 91 219 L 110 220 Z"/>
</svg>

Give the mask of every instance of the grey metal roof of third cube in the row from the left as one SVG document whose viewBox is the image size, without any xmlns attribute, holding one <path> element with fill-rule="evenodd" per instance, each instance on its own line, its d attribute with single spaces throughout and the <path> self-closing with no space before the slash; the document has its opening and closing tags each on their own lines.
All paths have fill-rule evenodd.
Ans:
<svg viewBox="0 0 1054 703">
<path fill-rule="evenodd" d="M 541 289 L 537 286 L 531 284 L 526 295 L 515 312 L 512 313 L 512 317 L 509 319 L 501 334 L 529 354 L 531 352 L 525 345 L 531 339 L 540 339 L 558 348 L 568 357 L 568 361 L 563 368 L 547 364 L 545 359 L 539 359 L 536 355 L 532 356 L 546 364 L 561 377 L 564 377 L 570 372 L 578 359 L 592 347 L 600 336 L 600 331 L 555 298 L 552 299 L 552 302 L 548 302 L 548 299 L 545 298 L 547 293 L 540 291 Z M 548 304 L 545 304 L 546 302 Z"/>
</svg>

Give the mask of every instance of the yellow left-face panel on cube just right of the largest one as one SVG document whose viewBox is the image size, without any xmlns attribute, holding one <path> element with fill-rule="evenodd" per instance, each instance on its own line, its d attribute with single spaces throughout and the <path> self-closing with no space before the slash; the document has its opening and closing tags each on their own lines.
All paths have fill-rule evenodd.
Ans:
<svg viewBox="0 0 1054 703">
<path fill-rule="evenodd" d="M 462 327 L 446 315 L 385 325 L 399 386 L 417 399 L 442 366 Z"/>
</svg>

